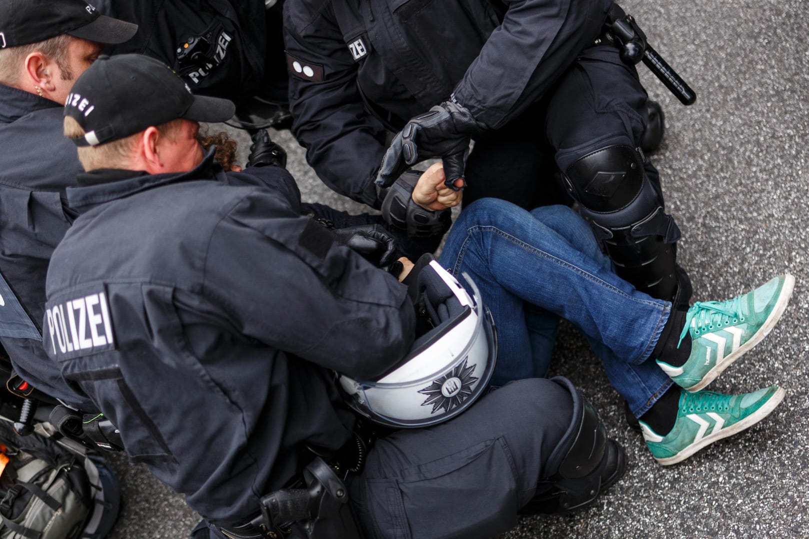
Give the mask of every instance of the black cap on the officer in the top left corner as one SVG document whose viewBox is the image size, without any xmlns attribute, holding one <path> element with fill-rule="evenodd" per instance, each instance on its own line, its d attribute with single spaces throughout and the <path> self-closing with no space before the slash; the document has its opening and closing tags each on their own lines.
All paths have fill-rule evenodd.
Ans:
<svg viewBox="0 0 809 539">
<path fill-rule="evenodd" d="M 0 0 L 0 48 L 70 34 L 96 43 L 129 40 L 138 25 L 101 15 L 83 0 Z"/>
</svg>

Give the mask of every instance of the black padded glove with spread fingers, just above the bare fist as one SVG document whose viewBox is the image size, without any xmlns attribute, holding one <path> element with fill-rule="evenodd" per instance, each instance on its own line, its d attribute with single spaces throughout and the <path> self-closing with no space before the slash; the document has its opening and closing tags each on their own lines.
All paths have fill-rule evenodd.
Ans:
<svg viewBox="0 0 809 539">
<path fill-rule="evenodd" d="M 455 190 L 462 188 L 470 135 L 483 128 L 483 124 L 458 103 L 445 101 L 432 107 L 430 112 L 410 120 L 393 138 L 379 167 L 376 184 L 389 187 L 416 162 L 442 158 L 447 178 L 444 184 Z M 461 184 L 456 185 L 459 179 Z"/>
</svg>

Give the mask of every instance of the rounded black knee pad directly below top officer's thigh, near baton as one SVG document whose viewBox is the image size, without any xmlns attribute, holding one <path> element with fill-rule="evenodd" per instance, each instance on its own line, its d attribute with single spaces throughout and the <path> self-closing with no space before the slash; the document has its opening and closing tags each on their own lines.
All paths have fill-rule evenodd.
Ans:
<svg viewBox="0 0 809 539">
<path fill-rule="evenodd" d="M 578 158 L 565 170 L 574 199 L 598 213 L 632 203 L 643 187 L 643 156 L 629 145 L 609 145 Z"/>
</svg>

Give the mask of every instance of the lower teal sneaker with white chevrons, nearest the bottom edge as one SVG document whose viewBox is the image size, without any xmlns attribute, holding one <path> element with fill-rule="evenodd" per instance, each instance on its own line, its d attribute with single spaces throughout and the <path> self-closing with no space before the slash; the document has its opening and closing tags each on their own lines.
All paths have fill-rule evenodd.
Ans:
<svg viewBox="0 0 809 539">
<path fill-rule="evenodd" d="M 680 391 L 680 409 L 671 432 L 660 436 L 641 421 L 643 438 L 660 464 L 676 464 L 716 440 L 752 427 L 775 410 L 785 394 L 777 385 L 740 395 Z"/>
</svg>

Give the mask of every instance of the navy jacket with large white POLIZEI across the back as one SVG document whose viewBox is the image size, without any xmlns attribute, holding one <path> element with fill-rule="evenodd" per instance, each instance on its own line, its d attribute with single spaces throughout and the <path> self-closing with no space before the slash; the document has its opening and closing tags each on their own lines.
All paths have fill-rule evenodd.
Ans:
<svg viewBox="0 0 809 539">
<path fill-rule="evenodd" d="M 311 218 L 274 166 L 102 171 L 68 190 L 44 347 L 133 461 L 239 524 L 354 424 L 332 369 L 383 373 L 413 341 L 406 288 Z M 109 181 L 117 179 L 117 181 Z M 85 183 L 80 177 L 80 183 Z"/>
</svg>

